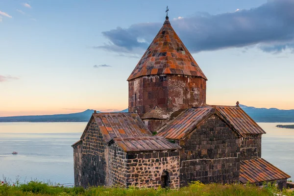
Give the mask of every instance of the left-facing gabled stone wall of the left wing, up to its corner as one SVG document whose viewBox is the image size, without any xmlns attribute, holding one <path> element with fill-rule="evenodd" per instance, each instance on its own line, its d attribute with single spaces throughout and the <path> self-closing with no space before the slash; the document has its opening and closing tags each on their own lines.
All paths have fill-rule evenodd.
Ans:
<svg viewBox="0 0 294 196">
<path fill-rule="evenodd" d="M 78 167 L 75 167 L 75 184 L 82 187 L 126 186 L 125 157 L 126 153 L 122 148 L 116 144 L 111 146 L 106 144 L 96 122 L 93 120 L 83 138 L 81 178 L 78 178 Z"/>
</svg>

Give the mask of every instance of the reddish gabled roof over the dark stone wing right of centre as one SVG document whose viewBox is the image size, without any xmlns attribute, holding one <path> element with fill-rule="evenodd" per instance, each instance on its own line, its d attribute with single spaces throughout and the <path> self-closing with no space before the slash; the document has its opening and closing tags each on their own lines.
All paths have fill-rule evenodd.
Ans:
<svg viewBox="0 0 294 196">
<path fill-rule="evenodd" d="M 157 135 L 173 140 L 183 139 L 199 123 L 213 114 L 218 115 L 223 121 L 231 125 L 240 135 L 266 133 L 239 106 L 209 105 L 185 110 L 170 123 L 161 127 Z"/>
</svg>

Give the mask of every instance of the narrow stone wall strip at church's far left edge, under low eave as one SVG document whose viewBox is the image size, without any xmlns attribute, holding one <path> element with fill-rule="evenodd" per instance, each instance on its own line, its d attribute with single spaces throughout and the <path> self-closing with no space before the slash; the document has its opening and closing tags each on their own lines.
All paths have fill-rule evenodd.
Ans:
<svg viewBox="0 0 294 196">
<path fill-rule="evenodd" d="M 74 170 L 74 186 L 81 186 L 82 177 L 82 142 L 73 146 L 73 170 Z"/>
</svg>

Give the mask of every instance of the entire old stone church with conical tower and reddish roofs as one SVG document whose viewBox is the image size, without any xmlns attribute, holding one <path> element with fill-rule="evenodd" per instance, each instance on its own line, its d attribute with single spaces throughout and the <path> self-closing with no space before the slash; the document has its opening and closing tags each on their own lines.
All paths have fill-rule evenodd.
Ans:
<svg viewBox="0 0 294 196">
<path fill-rule="evenodd" d="M 73 144 L 75 186 L 286 185 L 239 102 L 206 104 L 207 78 L 168 17 L 127 81 L 129 112 L 95 112 Z"/>
</svg>

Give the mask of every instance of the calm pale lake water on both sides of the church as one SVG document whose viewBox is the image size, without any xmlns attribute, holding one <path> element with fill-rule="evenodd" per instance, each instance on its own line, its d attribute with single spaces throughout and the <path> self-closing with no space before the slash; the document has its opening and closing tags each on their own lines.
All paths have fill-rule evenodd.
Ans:
<svg viewBox="0 0 294 196">
<path fill-rule="evenodd" d="M 0 181 L 73 184 L 73 148 L 87 123 L 0 123 Z M 258 123 L 262 157 L 294 177 L 294 129 Z M 17 155 L 12 155 L 17 151 Z M 294 178 L 293 178 L 294 179 Z"/>
</svg>

